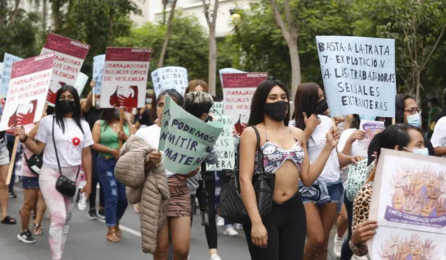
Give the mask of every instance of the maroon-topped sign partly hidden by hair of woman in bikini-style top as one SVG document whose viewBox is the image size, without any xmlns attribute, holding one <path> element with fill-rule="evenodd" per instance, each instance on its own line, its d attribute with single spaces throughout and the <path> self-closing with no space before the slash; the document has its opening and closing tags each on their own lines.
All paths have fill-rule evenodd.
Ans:
<svg viewBox="0 0 446 260">
<path fill-rule="evenodd" d="M 225 115 L 233 117 L 241 135 L 247 127 L 252 96 L 259 83 L 268 78 L 268 72 L 224 73 L 222 77 Z"/>
</svg>

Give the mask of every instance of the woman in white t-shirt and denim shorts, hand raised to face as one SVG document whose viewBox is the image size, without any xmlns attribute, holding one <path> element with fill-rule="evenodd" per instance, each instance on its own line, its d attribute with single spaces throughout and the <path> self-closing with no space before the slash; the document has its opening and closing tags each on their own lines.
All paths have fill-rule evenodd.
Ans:
<svg viewBox="0 0 446 260">
<path fill-rule="evenodd" d="M 294 100 L 295 126 L 304 131 L 309 161 L 314 163 L 323 153 L 323 148 L 328 143 L 325 133 L 332 127 L 331 118 L 324 115 L 328 110 L 327 101 L 321 87 L 316 83 L 302 83 Z M 305 246 L 305 259 L 327 258 L 330 229 L 343 201 L 339 170 L 360 160 L 358 156 L 347 156 L 334 149 L 314 184 L 307 187 L 300 183 L 299 193 L 307 214 L 308 242 Z"/>
</svg>

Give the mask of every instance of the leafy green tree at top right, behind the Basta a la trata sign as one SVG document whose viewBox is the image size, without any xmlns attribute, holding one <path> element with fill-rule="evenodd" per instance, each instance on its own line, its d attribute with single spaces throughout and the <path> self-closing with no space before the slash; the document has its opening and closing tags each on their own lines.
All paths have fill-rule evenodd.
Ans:
<svg viewBox="0 0 446 260">
<path fill-rule="evenodd" d="M 420 101 L 425 84 L 438 84 L 442 79 L 445 83 L 445 73 L 438 70 L 445 62 L 444 0 L 357 2 L 367 13 L 357 22 L 357 33 L 395 39 L 397 73 L 405 90 Z"/>
</svg>

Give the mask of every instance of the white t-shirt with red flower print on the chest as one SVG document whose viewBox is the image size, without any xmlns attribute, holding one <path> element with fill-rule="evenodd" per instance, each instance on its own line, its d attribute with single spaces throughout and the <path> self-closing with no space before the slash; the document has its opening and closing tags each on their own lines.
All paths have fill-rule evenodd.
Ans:
<svg viewBox="0 0 446 260">
<path fill-rule="evenodd" d="M 43 167 L 59 169 L 52 137 L 53 117 L 54 115 L 47 115 L 40 121 L 36 140 L 45 143 Z M 59 124 L 54 122 L 54 138 L 56 139 L 57 154 L 61 168 L 79 166 L 82 163 L 82 149 L 93 145 L 89 123 L 81 120 L 82 129 L 84 130 L 84 133 L 82 133 L 72 118 L 64 118 L 63 122 L 65 133 L 62 132 Z"/>
</svg>

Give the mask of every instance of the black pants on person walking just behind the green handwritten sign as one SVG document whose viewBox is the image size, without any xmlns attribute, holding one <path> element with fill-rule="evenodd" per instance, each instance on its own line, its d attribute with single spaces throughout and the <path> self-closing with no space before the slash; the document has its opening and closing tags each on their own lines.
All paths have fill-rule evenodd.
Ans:
<svg viewBox="0 0 446 260">
<path fill-rule="evenodd" d="M 208 241 L 208 247 L 217 248 L 217 223 L 215 222 L 215 172 L 206 172 L 206 190 L 209 195 L 209 225 L 204 226 L 204 231 L 206 233 L 206 241 Z M 200 202 L 200 192 L 203 186 L 198 187 L 197 197 Z M 201 221 L 201 218 L 199 219 Z"/>
</svg>

